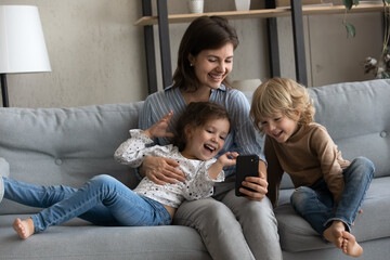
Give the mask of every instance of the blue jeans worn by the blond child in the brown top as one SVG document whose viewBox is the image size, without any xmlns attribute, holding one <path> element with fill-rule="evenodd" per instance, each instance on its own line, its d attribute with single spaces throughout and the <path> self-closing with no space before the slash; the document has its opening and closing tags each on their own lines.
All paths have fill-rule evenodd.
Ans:
<svg viewBox="0 0 390 260">
<path fill-rule="evenodd" d="M 369 159 L 358 157 L 342 171 L 344 188 L 338 205 L 335 205 L 333 194 L 321 179 L 311 187 L 300 186 L 292 193 L 292 208 L 321 235 L 334 220 L 342 221 L 350 232 L 373 180 L 374 170 Z"/>
</svg>

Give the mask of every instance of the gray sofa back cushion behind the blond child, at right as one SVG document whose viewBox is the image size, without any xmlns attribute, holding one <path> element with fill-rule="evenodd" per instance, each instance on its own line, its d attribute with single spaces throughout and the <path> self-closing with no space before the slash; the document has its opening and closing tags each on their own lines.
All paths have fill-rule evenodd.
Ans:
<svg viewBox="0 0 390 260">
<path fill-rule="evenodd" d="M 309 89 L 315 121 L 325 126 L 346 159 L 369 158 L 375 177 L 390 176 L 390 80 Z"/>
</svg>

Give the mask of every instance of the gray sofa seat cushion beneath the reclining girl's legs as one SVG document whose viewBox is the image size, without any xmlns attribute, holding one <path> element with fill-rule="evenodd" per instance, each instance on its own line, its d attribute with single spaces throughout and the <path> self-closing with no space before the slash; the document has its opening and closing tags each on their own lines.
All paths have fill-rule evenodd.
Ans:
<svg viewBox="0 0 390 260">
<path fill-rule="evenodd" d="M 211 259 L 198 233 L 187 226 L 95 226 L 80 219 L 21 240 L 16 217 L 0 218 L 0 259 Z"/>
</svg>

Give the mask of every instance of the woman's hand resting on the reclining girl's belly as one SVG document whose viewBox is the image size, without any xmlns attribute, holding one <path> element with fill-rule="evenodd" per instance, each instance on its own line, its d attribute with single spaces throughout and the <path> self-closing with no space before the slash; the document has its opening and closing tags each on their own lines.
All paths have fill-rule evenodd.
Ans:
<svg viewBox="0 0 390 260">
<path fill-rule="evenodd" d="M 167 182 L 174 184 L 178 181 L 185 181 L 184 173 L 178 167 L 179 164 L 176 160 L 147 156 L 140 167 L 140 173 L 159 185 L 164 185 Z"/>
</svg>

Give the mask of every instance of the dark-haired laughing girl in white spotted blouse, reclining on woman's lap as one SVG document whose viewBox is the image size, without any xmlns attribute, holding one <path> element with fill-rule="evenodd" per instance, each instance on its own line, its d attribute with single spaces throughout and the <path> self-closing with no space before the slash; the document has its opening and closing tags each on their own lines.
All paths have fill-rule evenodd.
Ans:
<svg viewBox="0 0 390 260">
<path fill-rule="evenodd" d="M 98 176 L 81 188 L 37 186 L 0 178 L 4 197 L 32 207 L 46 208 L 26 220 L 16 219 L 13 227 L 21 238 L 51 225 L 79 217 L 103 225 L 170 224 L 184 199 L 212 195 L 212 184 L 224 180 L 222 168 L 235 165 L 237 153 L 213 157 L 224 145 L 230 131 L 226 110 L 217 104 L 191 103 L 178 123 L 173 145 L 146 147 L 154 138 L 172 136 L 167 132 L 172 113 L 145 131 L 130 130 L 131 138 L 115 152 L 122 164 L 139 167 L 144 156 L 164 156 L 177 160 L 185 172 L 185 182 L 157 185 L 147 178 L 131 191 L 109 176 Z M 1 198 L 0 198 L 1 200 Z"/>
</svg>

